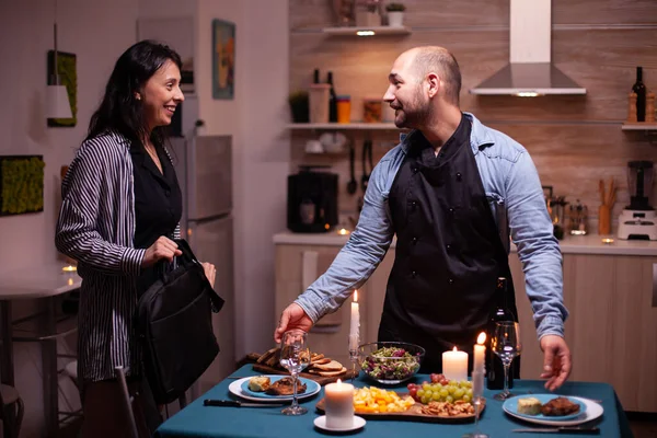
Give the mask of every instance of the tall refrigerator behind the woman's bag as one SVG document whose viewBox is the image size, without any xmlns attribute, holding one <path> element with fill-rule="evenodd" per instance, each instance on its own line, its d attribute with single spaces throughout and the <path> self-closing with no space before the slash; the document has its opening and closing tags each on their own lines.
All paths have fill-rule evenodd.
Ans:
<svg viewBox="0 0 657 438">
<path fill-rule="evenodd" d="M 196 399 L 235 367 L 232 165 L 230 136 L 173 138 L 173 161 L 183 192 L 181 234 L 200 262 L 217 267 L 215 290 L 226 300 L 212 314 L 219 355 L 192 388 Z"/>
</svg>

